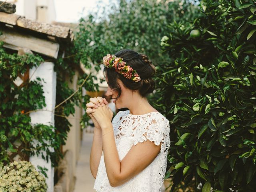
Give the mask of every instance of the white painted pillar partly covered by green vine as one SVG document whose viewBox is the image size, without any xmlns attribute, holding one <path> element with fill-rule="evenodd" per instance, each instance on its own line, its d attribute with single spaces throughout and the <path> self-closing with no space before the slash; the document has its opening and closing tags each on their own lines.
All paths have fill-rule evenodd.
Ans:
<svg viewBox="0 0 256 192">
<path fill-rule="evenodd" d="M 30 69 L 30 80 L 35 80 L 40 77 L 42 81 L 46 107 L 44 110 L 48 111 L 37 111 L 30 113 L 32 124 L 46 124 L 54 126 L 54 112 L 51 112 L 55 107 L 56 101 L 56 72 L 54 72 L 54 64 L 52 62 L 44 62 L 37 69 Z M 33 75 L 33 76 L 31 76 Z M 53 150 L 53 149 L 52 149 Z M 48 185 L 47 192 L 53 192 L 54 190 L 54 168 L 51 166 L 51 162 L 46 162 L 40 156 L 30 157 L 30 162 L 37 168 L 38 165 L 48 169 L 46 172 L 48 178 L 46 183 Z"/>
</svg>

